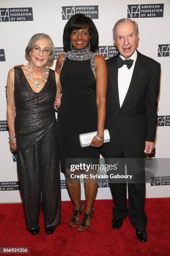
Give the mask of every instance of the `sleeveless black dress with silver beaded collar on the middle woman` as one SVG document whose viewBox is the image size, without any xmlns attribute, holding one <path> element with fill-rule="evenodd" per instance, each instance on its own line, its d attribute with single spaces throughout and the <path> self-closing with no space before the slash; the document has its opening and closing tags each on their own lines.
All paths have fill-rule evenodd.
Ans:
<svg viewBox="0 0 170 256">
<path fill-rule="evenodd" d="M 81 148 L 79 134 L 97 131 L 95 55 L 88 49 L 64 54 L 60 82 L 62 99 L 57 116 L 60 164 L 66 158 L 100 156 L 98 148 Z"/>
</svg>

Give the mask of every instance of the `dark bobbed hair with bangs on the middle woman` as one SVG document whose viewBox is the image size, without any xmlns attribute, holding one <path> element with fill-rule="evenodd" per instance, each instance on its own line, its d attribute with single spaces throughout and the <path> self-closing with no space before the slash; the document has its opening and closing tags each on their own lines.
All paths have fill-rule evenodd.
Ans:
<svg viewBox="0 0 170 256">
<path fill-rule="evenodd" d="M 70 51 L 70 35 L 74 29 L 89 28 L 90 33 L 90 51 L 95 52 L 99 43 L 99 35 L 97 28 L 91 18 L 84 14 L 77 13 L 73 15 L 66 23 L 63 31 L 63 46 L 64 51 Z"/>
</svg>

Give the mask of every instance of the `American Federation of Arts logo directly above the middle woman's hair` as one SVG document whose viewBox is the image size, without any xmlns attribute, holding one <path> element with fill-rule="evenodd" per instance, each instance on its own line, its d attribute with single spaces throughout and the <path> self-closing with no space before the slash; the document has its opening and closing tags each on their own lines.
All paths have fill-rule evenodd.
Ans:
<svg viewBox="0 0 170 256">
<path fill-rule="evenodd" d="M 62 6 L 62 20 L 69 20 L 72 15 L 82 13 L 92 19 L 98 19 L 98 5 Z"/>
</svg>

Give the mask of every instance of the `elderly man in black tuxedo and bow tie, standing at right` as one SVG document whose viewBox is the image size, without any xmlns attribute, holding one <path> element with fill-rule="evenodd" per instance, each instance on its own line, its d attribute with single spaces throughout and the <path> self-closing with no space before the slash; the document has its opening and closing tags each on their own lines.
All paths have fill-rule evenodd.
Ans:
<svg viewBox="0 0 170 256">
<path fill-rule="evenodd" d="M 144 162 L 145 154 L 150 154 L 155 147 L 160 64 L 136 50 L 138 34 L 138 24 L 128 18 L 118 20 L 113 28 L 119 54 L 107 59 L 105 128 L 110 133 L 110 143 L 102 148 L 104 157 L 109 159 L 143 159 Z M 133 169 L 133 173 L 138 169 L 133 161 L 126 165 L 127 172 L 128 168 Z M 140 177 L 145 179 L 144 165 L 139 166 Z M 110 183 L 110 189 L 115 203 L 112 228 L 120 228 L 129 215 L 137 238 L 146 242 L 145 182 Z"/>
</svg>

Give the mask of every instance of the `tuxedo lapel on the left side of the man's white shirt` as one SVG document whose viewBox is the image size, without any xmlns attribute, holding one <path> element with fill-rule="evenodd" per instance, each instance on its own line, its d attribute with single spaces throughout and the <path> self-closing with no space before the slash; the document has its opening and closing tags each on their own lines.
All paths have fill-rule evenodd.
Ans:
<svg viewBox="0 0 170 256">
<path fill-rule="evenodd" d="M 118 91 L 118 68 L 117 68 L 117 59 L 113 61 L 113 63 L 108 67 L 110 85 L 113 91 L 113 95 L 117 102 L 118 107 L 120 108 L 119 102 L 119 91 Z"/>
</svg>

